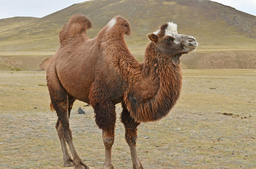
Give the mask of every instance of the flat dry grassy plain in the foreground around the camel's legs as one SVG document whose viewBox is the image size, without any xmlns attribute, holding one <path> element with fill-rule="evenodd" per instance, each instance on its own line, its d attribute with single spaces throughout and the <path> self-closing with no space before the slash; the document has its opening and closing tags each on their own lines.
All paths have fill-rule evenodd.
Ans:
<svg viewBox="0 0 256 169">
<path fill-rule="evenodd" d="M 145 168 L 256 168 L 256 70 L 183 70 L 175 108 L 138 127 Z M 0 72 L 0 168 L 64 168 L 45 72 Z M 102 168 L 102 131 L 91 106 L 76 101 L 73 140 L 83 161 Z M 77 113 L 81 106 L 85 114 Z M 118 118 L 121 107 L 116 105 Z M 144 139 L 148 137 L 148 139 Z M 115 168 L 132 168 L 124 127 L 116 122 Z"/>
</svg>

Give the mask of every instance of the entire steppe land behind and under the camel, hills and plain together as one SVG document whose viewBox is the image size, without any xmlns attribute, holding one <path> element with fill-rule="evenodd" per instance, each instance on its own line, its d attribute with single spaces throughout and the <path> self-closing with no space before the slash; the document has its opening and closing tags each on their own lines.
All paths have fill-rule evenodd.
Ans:
<svg viewBox="0 0 256 169">
<path fill-rule="evenodd" d="M 171 113 L 138 127 L 144 168 L 256 168 L 256 16 L 208 0 L 95 0 L 42 18 L 1 19 L 0 168 L 64 168 L 45 69 L 59 47 L 59 30 L 77 13 L 92 20 L 90 38 L 115 15 L 124 16 L 132 28 L 125 39 L 139 61 L 146 35 L 166 21 L 199 43 L 181 57 L 183 88 Z M 132 168 L 121 112 L 116 105 L 112 162 Z M 76 101 L 70 124 L 83 162 L 102 168 L 105 150 L 93 108 Z"/>
</svg>

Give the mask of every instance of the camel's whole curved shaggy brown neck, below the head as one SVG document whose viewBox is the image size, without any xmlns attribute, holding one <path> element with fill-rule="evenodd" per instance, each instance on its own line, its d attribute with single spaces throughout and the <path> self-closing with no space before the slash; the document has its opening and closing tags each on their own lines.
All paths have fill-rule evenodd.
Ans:
<svg viewBox="0 0 256 169">
<path fill-rule="evenodd" d="M 137 122 L 157 121 L 170 112 L 180 96 L 179 58 L 159 54 L 153 44 L 146 48 L 140 77 L 133 80 L 124 96 L 125 104 Z"/>
</svg>

